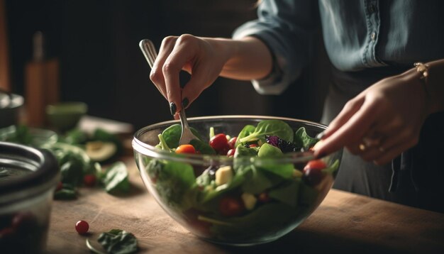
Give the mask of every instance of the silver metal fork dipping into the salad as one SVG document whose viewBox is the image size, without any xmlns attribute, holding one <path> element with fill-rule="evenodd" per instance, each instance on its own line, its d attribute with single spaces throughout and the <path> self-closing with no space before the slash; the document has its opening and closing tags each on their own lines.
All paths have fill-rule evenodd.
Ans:
<svg viewBox="0 0 444 254">
<path fill-rule="evenodd" d="M 143 55 L 145 55 L 145 58 L 148 61 L 148 65 L 150 65 L 150 67 L 152 68 L 152 65 L 154 65 L 154 61 L 157 57 L 157 51 L 154 47 L 154 44 L 151 40 L 143 39 L 140 40 L 139 47 L 140 50 L 142 50 Z M 179 111 L 179 119 L 182 125 L 182 134 L 180 136 L 179 145 L 189 144 L 189 142 L 194 139 L 199 140 L 199 138 L 194 136 L 191 129 L 189 128 L 184 107 L 182 107 L 182 109 Z"/>
</svg>

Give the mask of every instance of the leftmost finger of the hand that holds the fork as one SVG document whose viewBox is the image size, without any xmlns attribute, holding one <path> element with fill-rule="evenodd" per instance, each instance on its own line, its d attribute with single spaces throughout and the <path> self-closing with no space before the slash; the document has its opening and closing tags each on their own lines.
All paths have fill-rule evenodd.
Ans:
<svg viewBox="0 0 444 254">
<path fill-rule="evenodd" d="M 177 40 L 176 36 L 168 36 L 162 40 L 159 55 L 157 55 L 150 72 L 150 79 L 155 84 L 159 92 L 168 100 L 167 88 L 165 87 L 165 78 L 163 76 L 162 67 L 167 60 L 168 55 L 172 52 L 174 44 Z"/>
</svg>

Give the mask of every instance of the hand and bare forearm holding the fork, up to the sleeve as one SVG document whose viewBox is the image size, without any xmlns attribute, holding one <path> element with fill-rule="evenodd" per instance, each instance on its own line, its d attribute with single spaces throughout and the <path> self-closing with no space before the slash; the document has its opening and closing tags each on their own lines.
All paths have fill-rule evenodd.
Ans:
<svg viewBox="0 0 444 254">
<path fill-rule="evenodd" d="M 259 79 L 272 69 L 272 57 L 257 38 L 231 40 L 193 35 L 168 36 L 162 41 L 150 79 L 170 102 L 174 115 L 187 107 L 221 75 L 233 79 Z M 179 72 L 191 79 L 179 85 Z"/>
</svg>

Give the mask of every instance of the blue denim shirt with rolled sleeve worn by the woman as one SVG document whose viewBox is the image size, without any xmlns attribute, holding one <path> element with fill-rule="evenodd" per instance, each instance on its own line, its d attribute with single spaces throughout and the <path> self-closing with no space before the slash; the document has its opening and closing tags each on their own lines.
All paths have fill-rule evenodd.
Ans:
<svg viewBox="0 0 444 254">
<path fill-rule="evenodd" d="M 443 7 L 428 0 L 264 0 L 258 19 L 233 38 L 256 36 L 270 47 L 274 72 L 252 83 L 260 94 L 279 94 L 309 62 L 319 23 L 328 56 L 341 71 L 444 58 Z"/>
</svg>

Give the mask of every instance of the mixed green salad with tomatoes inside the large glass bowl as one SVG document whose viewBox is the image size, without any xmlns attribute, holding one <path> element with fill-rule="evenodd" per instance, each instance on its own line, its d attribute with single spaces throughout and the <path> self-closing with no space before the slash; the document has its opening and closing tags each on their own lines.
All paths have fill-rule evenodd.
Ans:
<svg viewBox="0 0 444 254">
<path fill-rule="evenodd" d="M 199 140 L 187 145 L 178 145 L 181 131 L 179 124 L 166 128 L 156 148 L 172 158 L 200 154 L 221 159 L 208 165 L 138 158 L 137 153 L 136 159 L 163 208 L 210 241 L 260 243 L 288 233 L 321 203 L 339 166 L 338 160 L 293 163 L 294 152 L 311 153 L 318 139 L 281 120 L 247 125 L 239 133 L 210 128 L 209 142 L 192 130 Z"/>
</svg>

